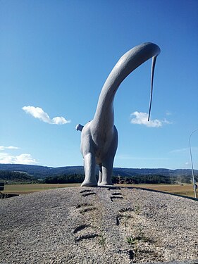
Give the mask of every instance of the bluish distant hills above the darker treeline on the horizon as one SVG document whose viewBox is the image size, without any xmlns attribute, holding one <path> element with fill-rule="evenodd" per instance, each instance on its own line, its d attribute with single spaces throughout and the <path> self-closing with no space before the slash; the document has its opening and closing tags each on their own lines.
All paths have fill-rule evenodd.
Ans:
<svg viewBox="0 0 198 264">
<path fill-rule="evenodd" d="M 21 165 L 21 164 L 0 164 L 0 170 L 25 172 L 35 178 L 45 178 L 54 175 L 72 175 L 72 174 L 85 174 L 82 166 L 67 166 L 67 167 L 46 167 L 39 165 Z M 97 174 L 99 169 L 97 168 Z M 149 168 L 113 168 L 113 176 L 132 177 L 135 175 L 163 175 L 163 176 L 190 176 L 191 170 L 169 170 L 164 168 L 149 169 Z M 198 170 L 194 170 L 194 176 L 198 177 Z"/>
</svg>

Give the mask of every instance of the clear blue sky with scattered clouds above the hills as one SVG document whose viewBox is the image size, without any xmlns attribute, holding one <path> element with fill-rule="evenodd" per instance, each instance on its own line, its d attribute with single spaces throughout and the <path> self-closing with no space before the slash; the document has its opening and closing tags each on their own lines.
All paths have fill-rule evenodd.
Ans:
<svg viewBox="0 0 198 264">
<path fill-rule="evenodd" d="M 198 1 L 0 1 L 0 163 L 82 165 L 80 132 L 126 51 L 161 48 L 151 122 L 151 61 L 120 85 L 114 102 L 114 167 L 191 168 L 198 128 Z M 198 131 L 191 137 L 198 169 Z"/>
</svg>

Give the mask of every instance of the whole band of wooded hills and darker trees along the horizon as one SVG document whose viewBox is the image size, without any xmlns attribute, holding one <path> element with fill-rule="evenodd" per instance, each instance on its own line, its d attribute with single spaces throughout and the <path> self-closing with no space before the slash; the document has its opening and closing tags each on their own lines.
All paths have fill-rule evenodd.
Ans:
<svg viewBox="0 0 198 264">
<path fill-rule="evenodd" d="M 99 174 L 99 168 L 96 170 Z M 198 170 L 194 170 L 198 178 Z M 84 180 L 82 166 L 44 167 L 39 165 L 0 164 L 0 181 L 13 183 L 80 183 Z M 113 183 L 125 184 L 174 184 L 191 183 L 191 170 L 113 168 Z"/>
</svg>

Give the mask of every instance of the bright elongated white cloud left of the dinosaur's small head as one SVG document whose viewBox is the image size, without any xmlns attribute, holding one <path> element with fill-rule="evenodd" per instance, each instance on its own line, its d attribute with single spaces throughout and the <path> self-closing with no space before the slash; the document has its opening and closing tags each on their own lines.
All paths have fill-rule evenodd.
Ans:
<svg viewBox="0 0 198 264">
<path fill-rule="evenodd" d="M 71 122 L 70 120 L 66 120 L 66 118 L 56 117 L 56 118 L 49 118 L 49 115 L 45 113 L 42 108 L 35 107 L 35 106 L 23 106 L 22 108 L 25 113 L 29 113 L 34 118 L 38 118 L 39 120 L 42 120 L 43 122 L 47 122 L 49 124 L 55 124 L 55 125 L 63 125 Z"/>
</svg>

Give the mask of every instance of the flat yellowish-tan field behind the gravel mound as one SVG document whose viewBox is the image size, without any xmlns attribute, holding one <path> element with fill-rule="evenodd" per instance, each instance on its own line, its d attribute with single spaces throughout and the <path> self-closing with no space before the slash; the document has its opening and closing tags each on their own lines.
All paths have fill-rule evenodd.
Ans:
<svg viewBox="0 0 198 264">
<path fill-rule="evenodd" d="M 35 191 L 45 191 L 48 189 L 79 187 L 80 183 L 74 184 L 7 184 L 4 194 L 30 194 Z M 142 187 L 154 189 L 156 191 L 166 191 L 171 194 L 194 197 L 192 184 L 116 184 L 120 187 Z"/>
</svg>

